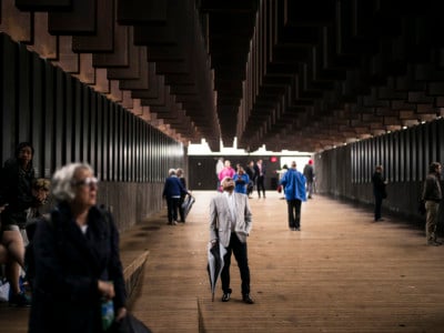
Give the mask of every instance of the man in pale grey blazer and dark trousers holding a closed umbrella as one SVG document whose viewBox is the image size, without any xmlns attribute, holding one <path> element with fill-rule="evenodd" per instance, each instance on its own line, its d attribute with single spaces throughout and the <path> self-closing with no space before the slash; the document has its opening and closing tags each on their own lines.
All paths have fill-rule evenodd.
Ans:
<svg viewBox="0 0 444 333">
<path fill-rule="evenodd" d="M 238 261 L 241 273 L 242 301 L 253 304 L 250 296 L 250 268 L 246 251 L 246 238 L 252 229 L 252 214 L 249 198 L 234 192 L 234 181 L 230 176 L 222 180 L 223 193 L 219 193 L 210 202 L 210 241 L 214 245 L 218 241 L 226 249 L 224 266 L 221 273 L 222 302 L 230 301 L 231 255 Z"/>
</svg>

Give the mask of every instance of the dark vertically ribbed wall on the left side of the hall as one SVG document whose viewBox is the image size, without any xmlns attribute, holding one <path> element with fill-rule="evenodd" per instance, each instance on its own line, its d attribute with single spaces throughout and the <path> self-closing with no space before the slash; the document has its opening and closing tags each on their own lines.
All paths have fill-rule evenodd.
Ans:
<svg viewBox="0 0 444 333">
<path fill-rule="evenodd" d="M 0 33 L 0 158 L 34 145 L 38 176 L 74 161 L 101 180 L 99 201 L 121 229 L 158 212 L 169 168 L 188 169 L 186 151 L 120 104 Z"/>
</svg>

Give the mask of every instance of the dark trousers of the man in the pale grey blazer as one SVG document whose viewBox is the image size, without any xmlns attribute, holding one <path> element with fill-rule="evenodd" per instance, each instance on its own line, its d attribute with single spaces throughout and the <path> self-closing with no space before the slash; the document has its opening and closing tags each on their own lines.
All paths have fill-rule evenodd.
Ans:
<svg viewBox="0 0 444 333">
<path fill-rule="evenodd" d="M 230 264 L 231 253 L 233 253 L 238 262 L 239 271 L 241 272 L 242 295 L 250 294 L 250 269 L 246 253 L 246 242 L 242 243 L 233 232 L 231 233 L 230 245 L 225 249 L 226 254 L 223 256 L 224 265 L 221 273 L 222 291 L 224 293 L 232 292 L 230 289 Z"/>
</svg>

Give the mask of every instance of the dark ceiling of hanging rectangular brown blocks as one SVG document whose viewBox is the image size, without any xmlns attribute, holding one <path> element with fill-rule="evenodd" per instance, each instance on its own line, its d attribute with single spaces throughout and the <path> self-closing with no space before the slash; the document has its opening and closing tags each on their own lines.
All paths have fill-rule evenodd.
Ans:
<svg viewBox="0 0 444 333">
<path fill-rule="evenodd" d="M 188 144 L 320 151 L 444 114 L 442 1 L 2 0 L 0 30 Z"/>
</svg>

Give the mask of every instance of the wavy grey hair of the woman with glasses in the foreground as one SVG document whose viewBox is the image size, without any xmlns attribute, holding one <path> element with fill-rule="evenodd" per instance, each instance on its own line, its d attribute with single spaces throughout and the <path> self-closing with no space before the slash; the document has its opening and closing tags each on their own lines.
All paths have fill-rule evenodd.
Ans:
<svg viewBox="0 0 444 333">
<path fill-rule="evenodd" d="M 79 169 L 85 169 L 94 173 L 88 163 L 67 164 L 56 171 L 51 182 L 52 195 L 56 200 L 70 202 L 75 198 L 73 180 L 75 171 Z"/>
</svg>

